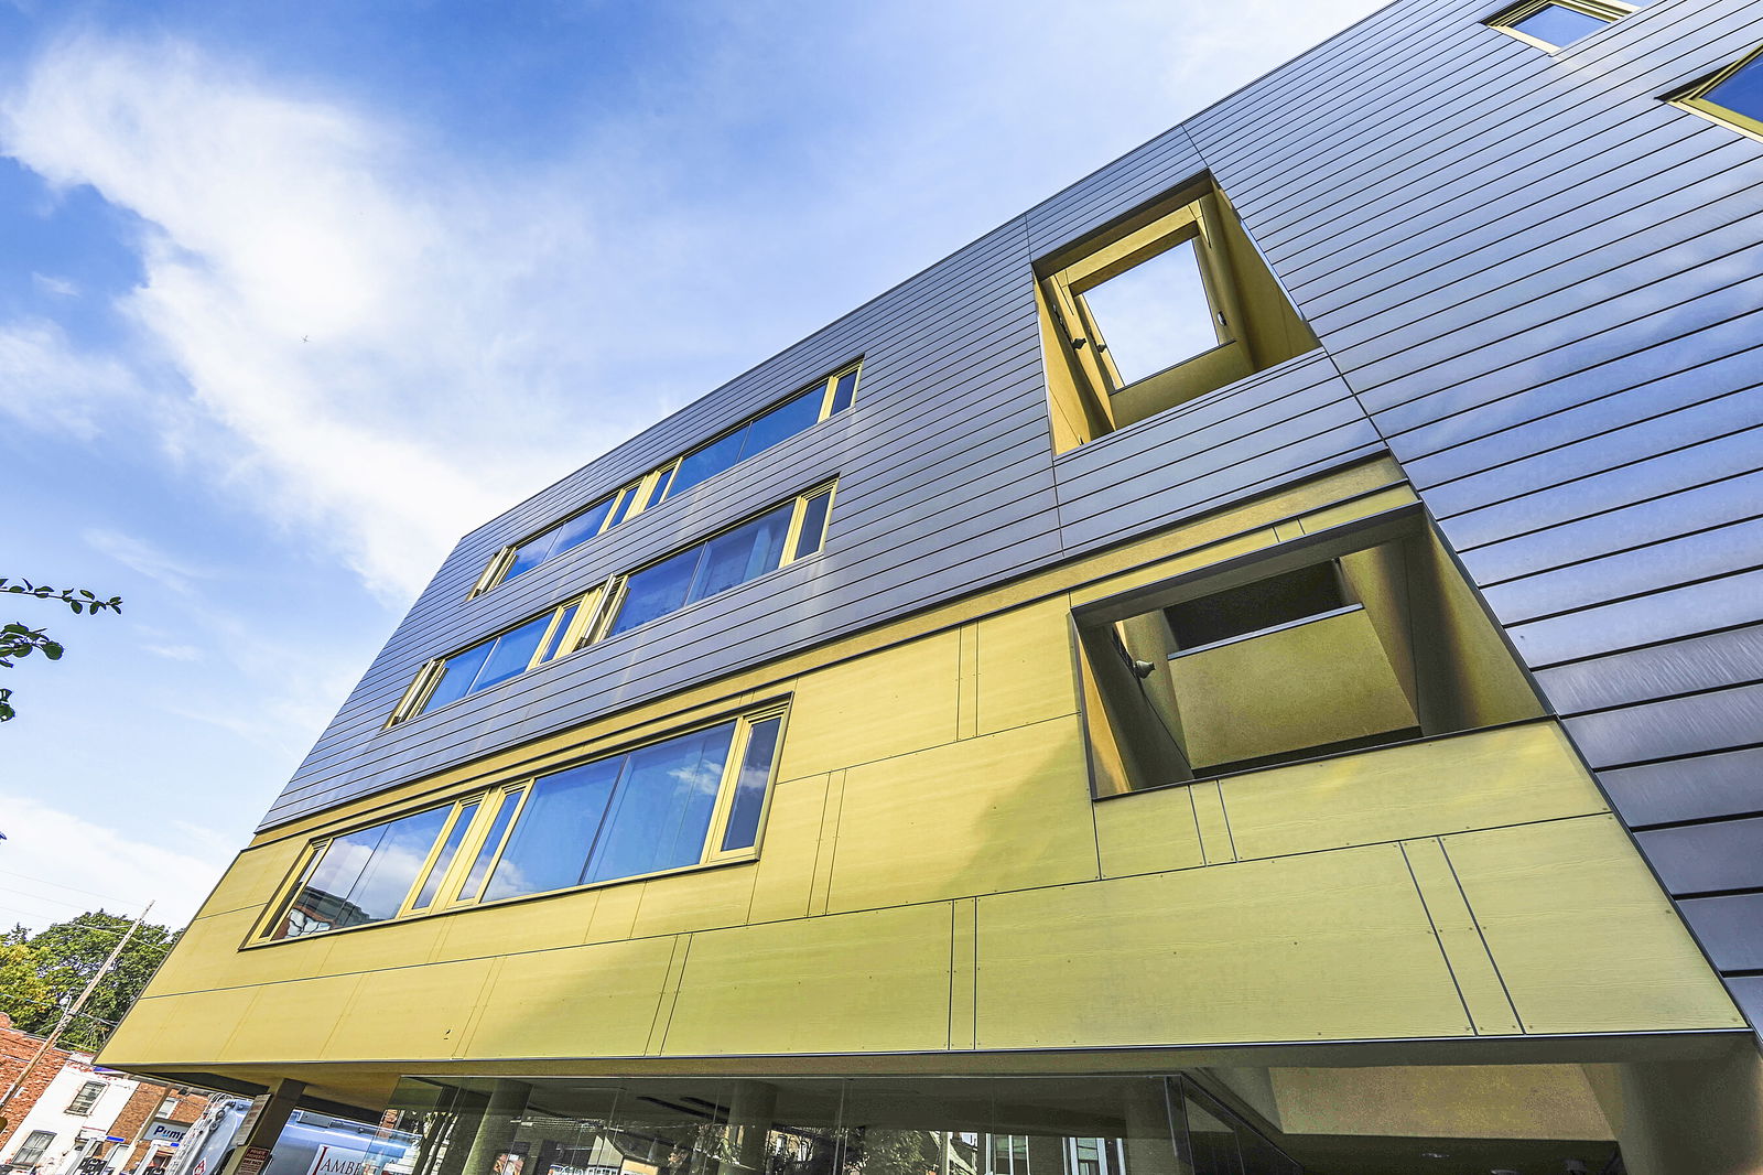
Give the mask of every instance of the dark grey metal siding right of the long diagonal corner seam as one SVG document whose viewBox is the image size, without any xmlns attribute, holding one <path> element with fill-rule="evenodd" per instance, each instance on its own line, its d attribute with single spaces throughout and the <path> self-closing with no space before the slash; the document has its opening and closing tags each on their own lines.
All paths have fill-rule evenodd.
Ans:
<svg viewBox="0 0 1763 1175">
<path fill-rule="evenodd" d="M 1548 55 L 1486 11 L 1395 5 L 1188 129 L 1691 926 L 1763 970 L 1763 143 L 1657 101 L 1763 14 Z"/>
</svg>

